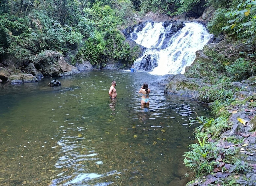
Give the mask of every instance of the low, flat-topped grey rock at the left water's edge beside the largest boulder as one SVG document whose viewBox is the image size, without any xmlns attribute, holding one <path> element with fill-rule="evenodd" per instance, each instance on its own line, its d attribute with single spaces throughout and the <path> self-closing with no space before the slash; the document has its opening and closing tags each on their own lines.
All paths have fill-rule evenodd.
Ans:
<svg viewBox="0 0 256 186">
<path fill-rule="evenodd" d="M 22 83 L 38 82 L 38 79 L 32 74 L 18 74 L 18 75 L 10 75 L 7 82 L 10 84 L 22 84 Z"/>
</svg>

